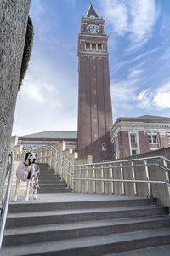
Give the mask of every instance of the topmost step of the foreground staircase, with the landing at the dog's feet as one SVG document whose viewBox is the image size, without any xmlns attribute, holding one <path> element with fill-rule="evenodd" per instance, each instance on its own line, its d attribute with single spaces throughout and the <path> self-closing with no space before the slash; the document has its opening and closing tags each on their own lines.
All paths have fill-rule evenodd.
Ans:
<svg viewBox="0 0 170 256">
<path fill-rule="evenodd" d="M 43 195 L 43 201 L 34 201 L 33 204 L 26 202 L 10 202 L 8 213 L 15 212 L 44 212 L 44 211 L 60 211 L 60 210 L 77 210 L 77 209 L 94 209 L 108 207 L 135 207 L 135 206 L 156 206 L 156 198 L 140 198 L 126 196 L 107 196 L 107 195 L 90 195 L 69 193 L 68 195 L 60 195 L 49 197 Z M 47 199 L 46 199 L 47 198 Z M 59 201 L 61 198 L 61 201 Z M 113 200 L 112 200 L 113 198 Z M 91 201 L 90 201 L 91 199 Z M 25 213 L 24 213 L 25 214 Z M 10 216 L 10 214 L 8 215 Z"/>
</svg>

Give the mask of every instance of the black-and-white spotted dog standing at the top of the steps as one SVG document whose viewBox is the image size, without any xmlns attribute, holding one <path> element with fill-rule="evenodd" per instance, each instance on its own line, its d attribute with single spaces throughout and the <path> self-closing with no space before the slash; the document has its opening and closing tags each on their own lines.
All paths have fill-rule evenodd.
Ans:
<svg viewBox="0 0 170 256">
<path fill-rule="evenodd" d="M 31 198 L 37 199 L 39 166 L 35 163 L 37 154 L 33 152 L 26 153 L 25 160 L 22 160 L 16 171 L 16 189 L 13 201 L 17 201 L 20 180 L 27 181 L 26 198 L 29 201 L 29 189 L 31 189 Z M 33 183 L 34 181 L 34 183 Z"/>
</svg>

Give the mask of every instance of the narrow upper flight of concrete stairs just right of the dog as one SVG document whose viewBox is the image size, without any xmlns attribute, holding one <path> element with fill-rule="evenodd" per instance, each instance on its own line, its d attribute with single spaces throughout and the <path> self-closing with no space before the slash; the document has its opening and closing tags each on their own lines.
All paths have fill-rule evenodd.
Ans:
<svg viewBox="0 0 170 256">
<path fill-rule="evenodd" d="M 47 164 L 38 164 L 40 166 L 40 175 L 38 183 L 40 188 L 37 193 L 66 193 L 71 192 L 71 189 L 66 188 L 66 183 L 61 181 L 53 169 L 50 169 Z"/>
</svg>

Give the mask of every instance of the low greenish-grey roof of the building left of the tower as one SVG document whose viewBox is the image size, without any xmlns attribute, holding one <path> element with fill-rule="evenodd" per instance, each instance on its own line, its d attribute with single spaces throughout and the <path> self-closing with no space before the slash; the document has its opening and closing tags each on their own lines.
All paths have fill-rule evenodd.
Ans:
<svg viewBox="0 0 170 256">
<path fill-rule="evenodd" d="M 20 136 L 23 138 L 77 139 L 77 131 L 42 131 Z"/>
</svg>

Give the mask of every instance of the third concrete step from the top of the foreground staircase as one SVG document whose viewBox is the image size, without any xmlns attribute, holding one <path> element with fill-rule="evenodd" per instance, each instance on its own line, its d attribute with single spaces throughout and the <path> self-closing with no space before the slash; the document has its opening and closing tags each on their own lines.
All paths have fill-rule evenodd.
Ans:
<svg viewBox="0 0 170 256">
<path fill-rule="evenodd" d="M 42 241 L 59 241 L 85 236 L 151 230 L 170 227 L 169 218 L 125 218 L 105 221 L 88 221 L 76 224 L 51 224 L 13 228 L 5 231 L 3 246 L 31 244 Z"/>
</svg>

